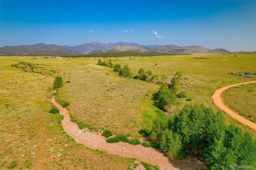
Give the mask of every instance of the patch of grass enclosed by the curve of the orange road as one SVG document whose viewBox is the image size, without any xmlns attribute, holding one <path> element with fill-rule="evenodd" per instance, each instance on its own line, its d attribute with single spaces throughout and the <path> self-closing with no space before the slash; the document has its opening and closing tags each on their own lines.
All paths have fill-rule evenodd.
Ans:
<svg viewBox="0 0 256 170">
<path fill-rule="evenodd" d="M 222 98 L 230 109 L 256 123 L 256 83 L 227 89 L 223 92 Z"/>
</svg>

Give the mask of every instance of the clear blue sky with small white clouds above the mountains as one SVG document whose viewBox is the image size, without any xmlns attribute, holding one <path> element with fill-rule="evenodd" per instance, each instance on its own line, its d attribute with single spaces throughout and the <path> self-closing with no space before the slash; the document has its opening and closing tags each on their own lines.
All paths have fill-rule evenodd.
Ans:
<svg viewBox="0 0 256 170">
<path fill-rule="evenodd" d="M 256 1 L 0 0 L 0 46 L 201 45 L 256 51 Z"/>
</svg>

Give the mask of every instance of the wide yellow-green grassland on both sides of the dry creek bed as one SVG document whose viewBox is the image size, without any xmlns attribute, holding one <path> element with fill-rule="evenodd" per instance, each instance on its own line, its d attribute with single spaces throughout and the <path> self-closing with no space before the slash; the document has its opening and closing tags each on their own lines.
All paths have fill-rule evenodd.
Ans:
<svg viewBox="0 0 256 170">
<path fill-rule="evenodd" d="M 255 55 L 255 52 L 241 52 L 205 56 L 211 59 L 194 59 L 204 55 L 119 57 L 112 62 L 121 66 L 128 64 L 134 75 L 140 68 L 151 70 L 159 79 L 166 75 L 166 82 L 176 71 L 181 71 L 180 91 L 192 101 L 177 99 L 176 114 L 186 103 L 204 103 L 217 111 L 211 97 L 216 89 L 255 80 L 229 74 L 255 73 Z M 72 119 L 91 130 L 109 129 L 114 134 L 140 136 L 138 130 L 150 129 L 154 118 L 164 117 L 151 100 L 160 85 L 120 77 L 113 68 L 98 66 L 97 62 L 98 58 L 0 57 L 0 168 L 128 169 L 133 164 L 130 158 L 75 143 L 62 131 L 61 115 L 48 113 L 52 107 L 49 99 L 54 76 L 62 75 L 64 82 L 70 83 L 58 90 L 57 101 L 70 103 Z M 255 86 L 250 89 L 254 90 Z M 235 101 L 242 103 L 240 99 Z M 256 100 L 252 100 L 250 106 L 255 108 Z M 255 138 L 254 130 L 226 117 L 228 123 L 250 131 Z"/>
</svg>

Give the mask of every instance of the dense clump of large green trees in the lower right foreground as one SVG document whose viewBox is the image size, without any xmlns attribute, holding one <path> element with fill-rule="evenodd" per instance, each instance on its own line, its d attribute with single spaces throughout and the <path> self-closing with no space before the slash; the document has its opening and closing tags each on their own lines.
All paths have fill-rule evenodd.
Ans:
<svg viewBox="0 0 256 170">
<path fill-rule="evenodd" d="M 188 155 L 203 158 L 208 168 L 229 169 L 230 165 L 256 167 L 256 141 L 249 132 L 226 125 L 221 111 L 211 107 L 185 105 L 169 121 L 153 121 L 152 146 L 170 159 Z M 246 168 L 246 167 L 245 167 Z"/>
</svg>

